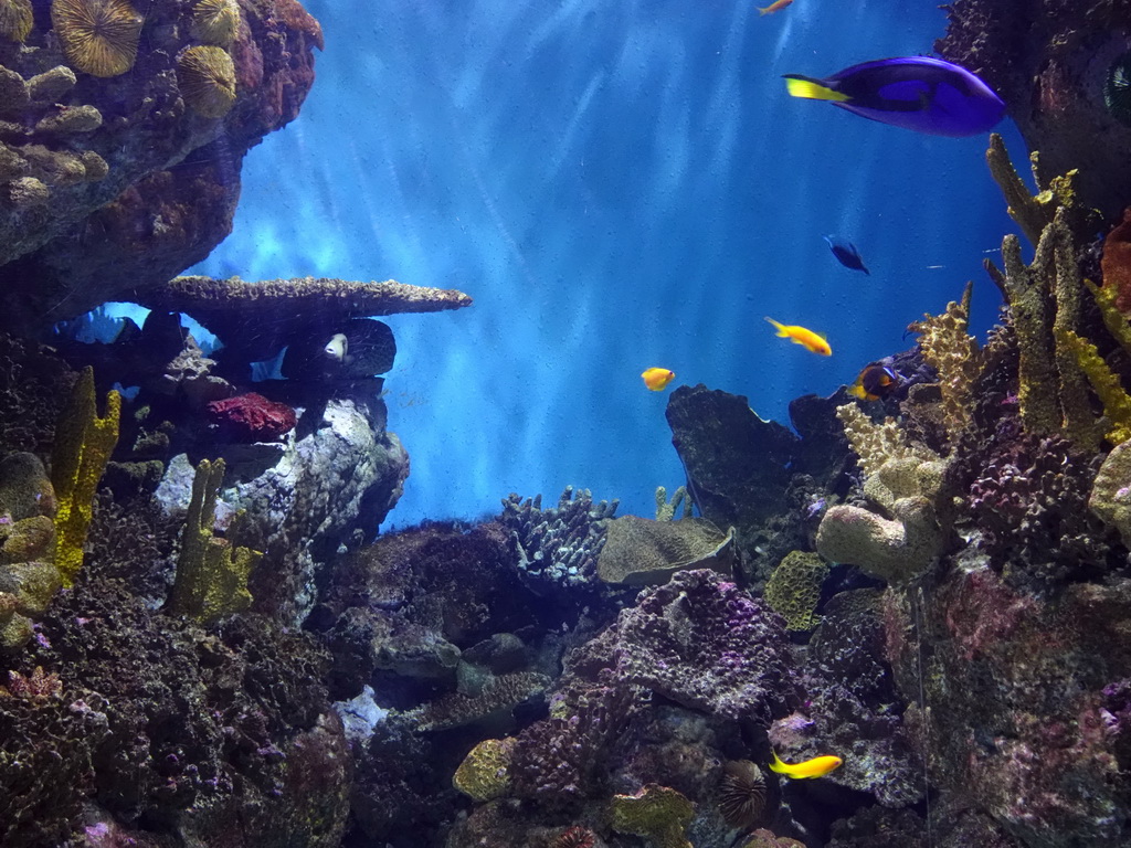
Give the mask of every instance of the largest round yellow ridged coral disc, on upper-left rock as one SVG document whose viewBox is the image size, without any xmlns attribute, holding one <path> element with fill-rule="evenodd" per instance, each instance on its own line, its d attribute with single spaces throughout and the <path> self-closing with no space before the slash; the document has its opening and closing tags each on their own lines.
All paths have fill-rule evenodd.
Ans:
<svg viewBox="0 0 1131 848">
<path fill-rule="evenodd" d="M 51 24 L 78 70 L 116 77 L 133 67 L 143 18 L 127 0 L 51 0 Z"/>
</svg>

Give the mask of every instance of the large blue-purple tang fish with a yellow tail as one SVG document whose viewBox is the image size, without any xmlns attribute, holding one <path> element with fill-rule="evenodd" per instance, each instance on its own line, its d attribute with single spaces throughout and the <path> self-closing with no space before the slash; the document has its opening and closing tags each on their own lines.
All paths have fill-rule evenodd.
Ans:
<svg viewBox="0 0 1131 848">
<path fill-rule="evenodd" d="M 785 75 L 794 97 L 828 101 L 880 123 L 931 136 L 977 136 L 1005 103 L 974 73 L 942 59 L 904 57 L 854 64 L 827 79 Z"/>
</svg>

